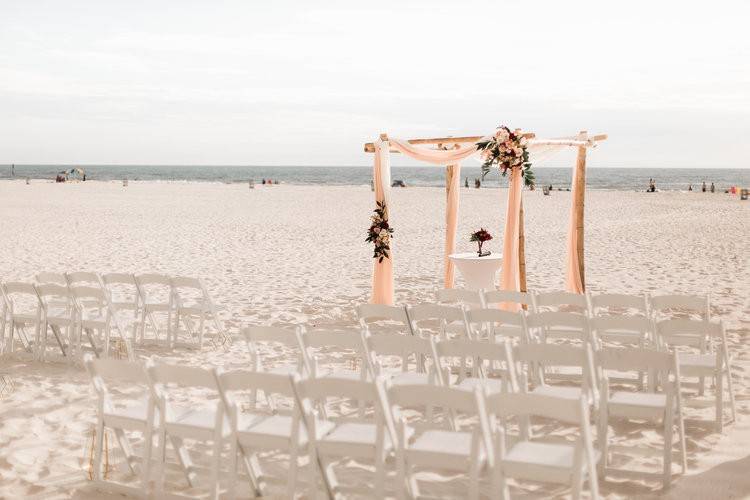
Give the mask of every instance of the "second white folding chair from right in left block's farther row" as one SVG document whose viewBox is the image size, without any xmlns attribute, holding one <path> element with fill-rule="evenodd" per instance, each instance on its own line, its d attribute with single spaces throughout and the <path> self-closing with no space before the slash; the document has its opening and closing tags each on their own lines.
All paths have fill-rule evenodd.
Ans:
<svg viewBox="0 0 750 500">
<path fill-rule="evenodd" d="M 169 276 L 163 274 L 139 274 L 135 276 L 135 282 L 138 285 L 138 293 L 141 302 L 141 319 L 140 319 L 140 342 L 146 340 L 146 322 L 151 325 L 154 332 L 153 341 L 160 342 L 160 334 L 165 332 L 164 342 L 173 346 L 172 336 L 172 314 L 174 312 L 172 280 Z M 157 313 L 166 313 L 164 328 L 160 328 Z"/>
</svg>

